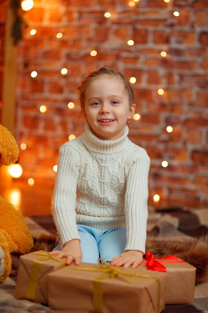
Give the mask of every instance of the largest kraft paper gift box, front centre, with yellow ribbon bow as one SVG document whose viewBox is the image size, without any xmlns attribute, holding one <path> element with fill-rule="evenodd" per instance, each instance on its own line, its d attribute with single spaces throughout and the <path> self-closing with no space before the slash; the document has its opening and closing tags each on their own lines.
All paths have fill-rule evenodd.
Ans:
<svg viewBox="0 0 208 313">
<path fill-rule="evenodd" d="M 82 262 L 48 274 L 50 309 L 159 313 L 165 308 L 163 292 L 166 273 L 150 271 L 145 264 L 135 269 L 109 264 L 103 266 Z M 111 274 L 114 275 L 112 268 L 105 272 L 106 267 L 113 267 L 113 270 L 119 271 L 118 275 L 111 277 Z M 128 278 L 132 280 L 128 281 Z"/>
</svg>

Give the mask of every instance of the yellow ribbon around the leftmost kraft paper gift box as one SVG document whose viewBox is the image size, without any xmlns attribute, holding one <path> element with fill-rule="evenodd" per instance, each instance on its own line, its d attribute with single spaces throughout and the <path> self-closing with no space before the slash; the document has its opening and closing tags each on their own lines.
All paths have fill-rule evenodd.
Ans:
<svg viewBox="0 0 208 313">
<path fill-rule="evenodd" d="M 29 281 L 28 281 L 28 286 L 27 286 L 26 298 L 28 298 L 30 300 L 34 300 L 36 288 L 37 288 L 37 280 L 38 280 L 38 276 L 39 276 L 39 272 L 40 272 L 40 268 L 41 268 L 42 263 L 49 260 L 49 259 L 54 259 L 58 262 L 61 262 L 62 266 L 65 266 L 65 260 L 57 258 L 55 255 L 51 255 L 48 252 L 35 251 L 35 252 L 31 252 L 31 253 L 42 255 L 42 257 L 36 258 L 32 264 L 31 272 L 30 272 L 30 276 L 29 276 Z"/>
</svg>

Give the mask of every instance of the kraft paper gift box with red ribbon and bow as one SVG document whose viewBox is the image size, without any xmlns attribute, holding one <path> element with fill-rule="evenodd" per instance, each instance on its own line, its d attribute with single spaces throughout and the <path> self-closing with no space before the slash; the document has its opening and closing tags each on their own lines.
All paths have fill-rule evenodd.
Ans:
<svg viewBox="0 0 208 313">
<path fill-rule="evenodd" d="M 167 280 L 164 293 L 166 304 L 194 303 L 196 267 L 175 255 L 155 258 L 151 252 L 147 252 L 146 259 L 146 262 L 151 261 L 153 264 L 156 261 L 166 268 Z"/>
</svg>

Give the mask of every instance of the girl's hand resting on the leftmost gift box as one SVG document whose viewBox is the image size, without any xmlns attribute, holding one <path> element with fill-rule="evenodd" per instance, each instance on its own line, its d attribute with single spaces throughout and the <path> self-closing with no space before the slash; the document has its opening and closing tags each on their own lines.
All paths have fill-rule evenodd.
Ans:
<svg viewBox="0 0 208 313">
<path fill-rule="evenodd" d="M 66 265 L 71 264 L 73 261 L 75 265 L 79 265 L 82 260 L 80 241 L 79 239 L 67 241 L 62 250 L 51 251 L 50 254 L 53 254 L 58 258 L 66 257 Z"/>
</svg>

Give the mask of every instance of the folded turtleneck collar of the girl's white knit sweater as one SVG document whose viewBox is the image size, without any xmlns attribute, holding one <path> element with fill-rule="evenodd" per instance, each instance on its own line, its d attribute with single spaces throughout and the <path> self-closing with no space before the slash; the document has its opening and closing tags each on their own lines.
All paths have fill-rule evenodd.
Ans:
<svg viewBox="0 0 208 313">
<path fill-rule="evenodd" d="M 126 125 L 124 127 L 123 135 L 115 140 L 102 140 L 94 135 L 89 124 L 85 124 L 85 132 L 80 136 L 83 144 L 94 152 L 98 153 L 117 153 L 124 150 L 129 143 L 129 138 L 127 137 L 129 133 L 129 128 Z"/>
</svg>

